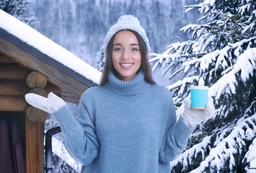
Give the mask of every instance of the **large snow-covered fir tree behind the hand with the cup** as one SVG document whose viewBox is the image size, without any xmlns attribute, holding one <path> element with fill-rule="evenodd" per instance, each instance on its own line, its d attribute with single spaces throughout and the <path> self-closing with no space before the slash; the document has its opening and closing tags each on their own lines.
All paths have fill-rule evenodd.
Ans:
<svg viewBox="0 0 256 173">
<path fill-rule="evenodd" d="M 197 2 L 197 1 L 196 1 Z M 151 53 L 153 71 L 182 80 L 167 86 L 179 107 L 191 85 L 209 86 L 215 116 L 199 125 L 171 172 L 256 172 L 256 1 L 206 0 L 197 9 L 203 24 L 181 31 L 190 41 Z"/>
</svg>

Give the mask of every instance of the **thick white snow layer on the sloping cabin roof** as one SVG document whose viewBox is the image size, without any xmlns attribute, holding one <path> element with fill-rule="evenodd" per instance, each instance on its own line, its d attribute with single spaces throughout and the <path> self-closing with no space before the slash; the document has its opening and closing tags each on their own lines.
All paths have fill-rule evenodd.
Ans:
<svg viewBox="0 0 256 173">
<path fill-rule="evenodd" d="M 1 9 L 0 28 L 5 29 L 5 31 L 11 35 L 14 35 L 32 47 L 35 47 L 35 49 L 38 49 L 41 53 L 55 59 L 55 61 L 69 67 L 69 69 L 73 69 L 73 71 L 79 73 L 86 79 L 93 81 L 93 83 L 99 84 L 102 74 L 100 71 L 91 67 L 91 65 L 88 65 L 85 61 L 67 51 L 67 49 L 64 49 L 35 29 L 29 27 L 29 25 L 26 25 Z"/>
</svg>

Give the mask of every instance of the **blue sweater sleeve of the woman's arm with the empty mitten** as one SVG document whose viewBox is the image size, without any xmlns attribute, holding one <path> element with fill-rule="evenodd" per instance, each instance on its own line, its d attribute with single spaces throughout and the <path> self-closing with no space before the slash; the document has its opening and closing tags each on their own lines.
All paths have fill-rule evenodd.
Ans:
<svg viewBox="0 0 256 173">
<path fill-rule="evenodd" d="M 61 126 L 61 131 L 65 136 L 65 148 L 77 162 L 85 166 L 99 154 L 99 141 L 95 134 L 95 126 L 86 106 L 85 94 L 83 94 L 79 102 L 78 120 L 71 114 L 67 105 L 53 113 L 53 117 Z"/>
</svg>

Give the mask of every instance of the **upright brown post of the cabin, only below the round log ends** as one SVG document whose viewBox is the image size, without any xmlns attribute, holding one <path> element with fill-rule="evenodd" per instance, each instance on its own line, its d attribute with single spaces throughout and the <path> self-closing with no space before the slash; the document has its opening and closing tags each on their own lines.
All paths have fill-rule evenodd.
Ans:
<svg viewBox="0 0 256 173">
<path fill-rule="evenodd" d="M 25 117 L 26 172 L 43 172 L 43 122 L 31 122 Z"/>
</svg>

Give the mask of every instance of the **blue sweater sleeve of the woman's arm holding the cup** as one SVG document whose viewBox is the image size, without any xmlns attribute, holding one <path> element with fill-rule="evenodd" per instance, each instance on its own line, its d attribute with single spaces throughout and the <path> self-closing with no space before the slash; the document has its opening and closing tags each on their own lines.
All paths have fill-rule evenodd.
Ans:
<svg viewBox="0 0 256 173">
<path fill-rule="evenodd" d="M 171 96 L 167 127 L 159 151 L 159 160 L 161 162 L 171 162 L 177 158 L 187 146 L 187 139 L 195 130 L 195 128 L 187 126 L 181 118 L 177 121 L 176 117 L 173 98 Z"/>
</svg>

